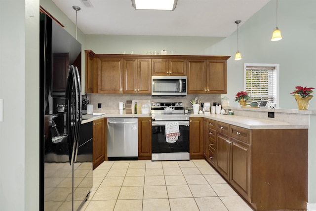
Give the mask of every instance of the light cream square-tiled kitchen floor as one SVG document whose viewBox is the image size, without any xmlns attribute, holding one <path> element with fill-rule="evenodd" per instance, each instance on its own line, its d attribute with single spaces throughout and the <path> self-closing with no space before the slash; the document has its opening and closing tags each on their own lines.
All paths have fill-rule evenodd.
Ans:
<svg viewBox="0 0 316 211">
<path fill-rule="evenodd" d="M 80 211 L 252 211 L 205 161 L 105 161 Z"/>
</svg>

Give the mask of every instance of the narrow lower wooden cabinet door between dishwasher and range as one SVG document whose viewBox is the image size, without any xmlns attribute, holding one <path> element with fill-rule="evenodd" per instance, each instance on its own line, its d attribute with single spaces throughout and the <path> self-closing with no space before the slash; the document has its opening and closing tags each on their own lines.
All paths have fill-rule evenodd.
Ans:
<svg viewBox="0 0 316 211">
<path fill-rule="evenodd" d="M 138 118 L 138 159 L 152 158 L 152 119 Z"/>
</svg>

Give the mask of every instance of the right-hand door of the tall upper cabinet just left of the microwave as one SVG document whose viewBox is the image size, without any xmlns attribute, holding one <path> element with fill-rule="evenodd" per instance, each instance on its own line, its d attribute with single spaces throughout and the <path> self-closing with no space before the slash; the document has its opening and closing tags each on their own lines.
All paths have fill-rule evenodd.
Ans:
<svg viewBox="0 0 316 211">
<path fill-rule="evenodd" d="M 152 93 L 151 59 L 138 59 L 137 61 L 137 93 Z"/>
</svg>

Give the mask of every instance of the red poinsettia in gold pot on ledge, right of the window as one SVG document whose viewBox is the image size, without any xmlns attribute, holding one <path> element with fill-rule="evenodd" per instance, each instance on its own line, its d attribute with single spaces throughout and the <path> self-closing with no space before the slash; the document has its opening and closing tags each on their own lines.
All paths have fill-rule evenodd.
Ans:
<svg viewBox="0 0 316 211">
<path fill-rule="evenodd" d="M 295 86 L 296 90 L 291 92 L 290 94 L 293 94 L 295 97 L 295 100 L 297 102 L 297 106 L 299 110 L 307 110 L 308 106 L 310 104 L 310 100 L 313 98 L 314 87 L 303 87 L 303 86 Z"/>
</svg>

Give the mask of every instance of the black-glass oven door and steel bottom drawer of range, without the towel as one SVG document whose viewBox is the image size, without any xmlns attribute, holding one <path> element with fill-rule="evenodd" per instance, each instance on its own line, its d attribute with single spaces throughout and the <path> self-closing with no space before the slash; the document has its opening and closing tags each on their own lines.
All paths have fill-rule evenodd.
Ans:
<svg viewBox="0 0 316 211">
<path fill-rule="evenodd" d="M 175 143 L 166 142 L 164 121 L 152 122 L 152 160 L 189 160 L 189 121 L 179 123 L 180 135 Z M 162 156 L 162 157 L 161 157 Z"/>
</svg>

